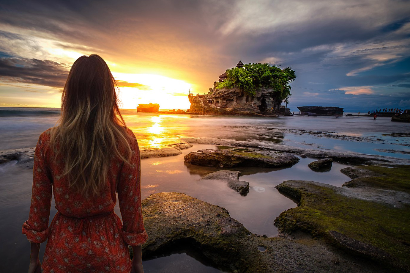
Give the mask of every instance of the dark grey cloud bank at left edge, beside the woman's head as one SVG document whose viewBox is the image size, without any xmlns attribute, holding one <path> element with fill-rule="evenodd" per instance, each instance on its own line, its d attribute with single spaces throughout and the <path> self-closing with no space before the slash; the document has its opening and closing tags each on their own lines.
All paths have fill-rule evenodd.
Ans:
<svg viewBox="0 0 410 273">
<path fill-rule="evenodd" d="M 0 58 L 0 79 L 5 82 L 64 87 L 68 67 L 50 60 Z"/>
</svg>

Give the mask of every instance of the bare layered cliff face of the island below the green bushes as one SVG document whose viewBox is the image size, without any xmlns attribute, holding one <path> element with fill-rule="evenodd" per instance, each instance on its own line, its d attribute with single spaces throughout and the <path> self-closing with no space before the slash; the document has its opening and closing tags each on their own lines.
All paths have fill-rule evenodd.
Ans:
<svg viewBox="0 0 410 273">
<path fill-rule="evenodd" d="M 281 101 L 271 88 L 261 88 L 251 97 L 239 88 L 212 89 L 210 94 L 188 95 L 189 113 L 199 115 L 275 115 Z"/>
</svg>

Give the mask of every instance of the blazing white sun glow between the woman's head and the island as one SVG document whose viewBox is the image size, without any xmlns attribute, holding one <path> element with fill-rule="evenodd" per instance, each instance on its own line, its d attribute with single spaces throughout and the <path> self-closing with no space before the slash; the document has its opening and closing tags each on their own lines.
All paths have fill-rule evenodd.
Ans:
<svg viewBox="0 0 410 273">
<path fill-rule="evenodd" d="M 159 103 L 160 109 L 187 110 L 190 107 L 188 94 L 191 84 L 183 80 L 153 74 L 113 72 L 113 75 L 120 81 L 118 96 L 123 109 L 135 109 L 139 103 Z"/>
</svg>

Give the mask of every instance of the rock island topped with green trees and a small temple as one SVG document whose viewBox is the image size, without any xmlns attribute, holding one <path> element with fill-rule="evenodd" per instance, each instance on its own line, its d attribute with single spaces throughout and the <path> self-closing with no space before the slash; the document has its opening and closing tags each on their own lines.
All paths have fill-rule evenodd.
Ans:
<svg viewBox="0 0 410 273">
<path fill-rule="evenodd" d="M 199 115 L 277 115 L 282 101 L 289 103 L 289 83 L 296 78 L 290 67 L 244 64 L 219 76 L 208 94 L 189 94 L 189 113 Z M 288 111 L 289 112 L 289 111 Z M 289 112 L 290 113 L 290 112 Z"/>
</svg>

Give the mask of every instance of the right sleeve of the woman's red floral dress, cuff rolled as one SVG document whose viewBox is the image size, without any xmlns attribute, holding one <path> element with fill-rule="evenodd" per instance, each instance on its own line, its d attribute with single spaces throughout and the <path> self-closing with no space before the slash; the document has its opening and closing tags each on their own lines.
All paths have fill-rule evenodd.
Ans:
<svg viewBox="0 0 410 273">
<path fill-rule="evenodd" d="M 136 139 L 132 140 L 131 149 L 130 163 L 124 162 L 118 182 L 118 201 L 123 219 L 122 236 L 128 245 L 142 245 L 148 240 L 148 234 L 142 219 L 141 158 Z"/>
</svg>

